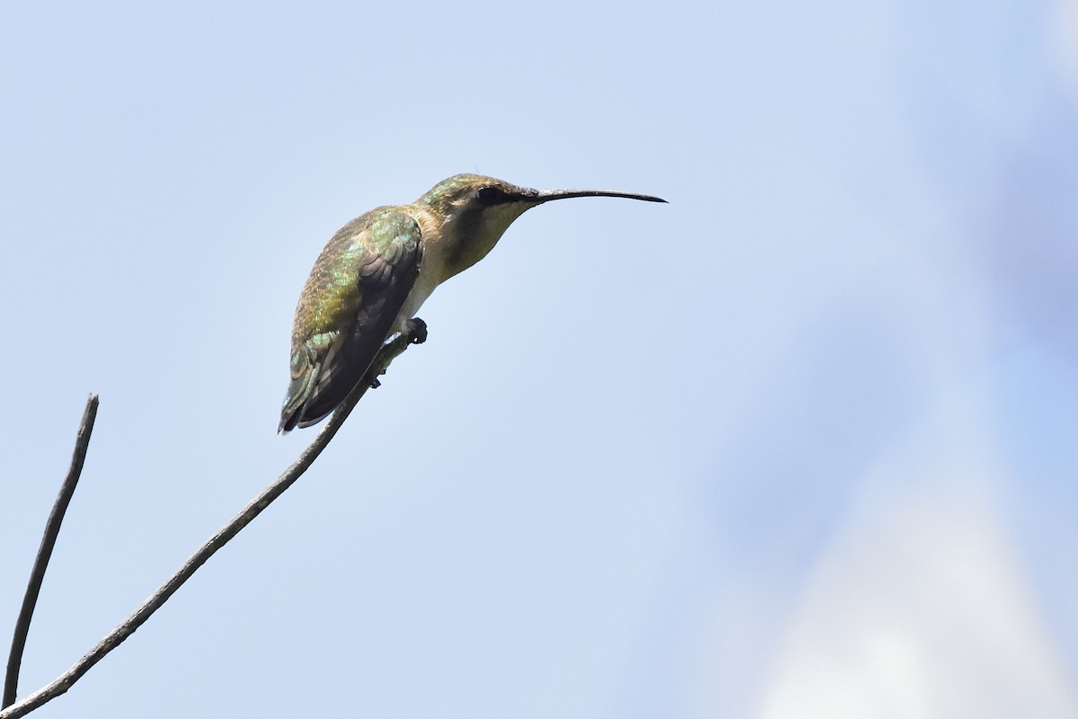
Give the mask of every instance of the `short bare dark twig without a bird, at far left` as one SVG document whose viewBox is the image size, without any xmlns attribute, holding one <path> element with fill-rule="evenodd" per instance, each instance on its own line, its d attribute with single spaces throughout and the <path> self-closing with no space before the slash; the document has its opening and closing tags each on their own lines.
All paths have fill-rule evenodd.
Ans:
<svg viewBox="0 0 1078 719">
<path fill-rule="evenodd" d="M 97 395 L 91 395 L 86 399 L 82 421 L 79 423 L 79 433 L 75 435 L 74 452 L 71 455 L 71 467 L 64 479 L 64 484 L 60 485 L 60 493 L 56 496 L 53 511 L 49 514 L 49 521 L 45 523 L 45 533 L 41 537 L 38 556 L 30 570 L 30 581 L 27 583 L 26 594 L 23 596 L 23 608 L 19 609 L 18 619 L 15 621 L 15 634 L 11 639 L 11 652 L 8 654 L 8 673 L 4 676 L 3 702 L 0 703 L 0 708 L 8 708 L 15 703 L 15 696 L 18 692 L 18 672 L 23 666 L 23 650 L 26 649 L 26 637 L 30 633 L 33 609 L 38 605 L 41 583 L 45 579 L 45 569 L 49 567 L 49 559 L 53 556 L 53 548 L 56 547 L 60 524 L 64 523 L 64 515 L 67 513 L 68 504 L 74 495 L 74 488 L 79 484 L 79 476 L 82 474 L 82 465 L 86 460 L 86 450 L 89 447 L 89 435 L 94 431 L 96 418 Z"/>
</svg>

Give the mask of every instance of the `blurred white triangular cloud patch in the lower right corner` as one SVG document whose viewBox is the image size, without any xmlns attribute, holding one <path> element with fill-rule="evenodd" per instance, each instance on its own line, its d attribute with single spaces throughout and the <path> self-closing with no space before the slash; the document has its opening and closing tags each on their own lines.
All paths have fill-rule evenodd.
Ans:
<svg viewBox="0 0 1078 719">
<path fill-rule="evenodd" d="M 759 716 L 1078 715 L 964 392 L 882 458 L 813 569 Z"/>
</svg>

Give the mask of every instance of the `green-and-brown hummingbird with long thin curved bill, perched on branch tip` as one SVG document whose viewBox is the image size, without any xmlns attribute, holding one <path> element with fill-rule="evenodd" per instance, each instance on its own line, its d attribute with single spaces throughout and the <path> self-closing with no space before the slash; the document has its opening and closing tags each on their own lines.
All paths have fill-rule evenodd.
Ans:
<svg viewBox="0 0 1078 719">
<path fill-rule="evenodd" d="M 436 287 L 485 258 L 525 211 L 570 197 L 666 202 L 455 175 L 411 205 L 376 207 L 341 227 L 315 261 L 295 307 L 278 432 L 321 421 L 360 382 L 377 387 L 392 357 L 426 340 L 427 326 L 415 313 Z"/>
</svg>

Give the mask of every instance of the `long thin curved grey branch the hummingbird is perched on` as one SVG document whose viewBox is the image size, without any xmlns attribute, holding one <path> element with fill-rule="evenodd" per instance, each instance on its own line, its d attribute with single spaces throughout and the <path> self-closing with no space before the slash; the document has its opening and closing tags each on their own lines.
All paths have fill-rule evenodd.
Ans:
<svg viewBox="0 0 1078 719">
<path fill-rule="evenodd" d="M 168 580 L 165 581 L 157 591 L 150 595 L 150 598 L 142 603 L 138 609 L 133 611 L 127 619 L 120 623 L 114 630 L 109 632 L 103 639 L 97 642 L 97 645 L 86 653 L 85 656 L 75 662 L 71 668 L 61 674 L 59 677 L 54 679 L 52 682 L 42 687 L 38 691 L 33 692 L 26 699 L 24 699 L 18 704 L 14 704 L 5 709 L 0 710 L 0 719 L 16 719 L 17 717 L 23 717 L 30 711 L 33 711 L 42 704 L 51 702 L 60 694 L 65 693 L 71 688 L 74 682 L 77 682 L 86 672 L 89 670 L 92 666 L 100 662 L 106 654 L 120 646 L 120 644 L 135 633 L 135 630 L 142 626 L 146 620 L 150 619 L 153 612 L 157 611 L 165 602 L 168 600 L 172 594 L 176 593 L 180 586 L 188 581 L 198 567 L 203 566 L 207 559 L 209 559 L 213 554 L 224 547 L 233 537 L 235 537 L 239 531 L 246 527 L 251 521 L 262 513 L 270 502 L 277 499 L 281 494 L 285 493 L 292 484 L 300 479 L 300 476 L 307 471 L 307 468 L 314 464 L 315 459 L 322 453 L 326 445 L 329 444 L 333 435 L 337 433 L 341 429 L 341 425 L 344 420 L 348 418 L 356 403 L 367 393 L 367 390 L 371 387 L 378 375 L 384 374 L 386 369 L 388 369 L 389 363 L 403 352 L 409 345 L 413 343 L 420 342 L 426 337 L 426 326 L 418 320 L 419 326 L 423 328 L 423 333 L 417 332 L 417 328 L 411 328 L 407 334 L 398 335 L 393 341 L 387 343 L 383 347 L 378 357 L 375 359 L 373 365 L 368 371 L 363 381 L 360 382 L 351 393 L 345 399 L 344 402 L 333 412 L 333 416 L 330 417 L 322 430 L 318 432 L 314 441 L 307 445 L 307 448 L 303 451 L 303 454 L 292 462 L 292 465 L 285 470 L 276 480 L 274 480 L 270 486 L 263 489 L 258 496 L 252 499 L 247 507 L 245 507 L 236 516 L 232 517 L 227 524 L 217 530 L 217 533 L 210 537 L 206 543 L 199 547 L 194 554 L 192 554 L 183 565 L 176 570 Z"/>
</svg>

